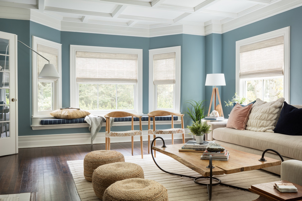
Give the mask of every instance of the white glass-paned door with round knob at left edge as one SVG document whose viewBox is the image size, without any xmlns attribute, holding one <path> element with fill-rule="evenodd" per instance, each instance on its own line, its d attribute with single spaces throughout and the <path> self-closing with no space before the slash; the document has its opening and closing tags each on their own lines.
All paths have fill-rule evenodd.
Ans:
<svg viewBox="0 0 302 201">
<path fill-rule="evenodd" d="M 0 31 L 0 156 L 18 153 L 17 35 Z"/>
</svg>

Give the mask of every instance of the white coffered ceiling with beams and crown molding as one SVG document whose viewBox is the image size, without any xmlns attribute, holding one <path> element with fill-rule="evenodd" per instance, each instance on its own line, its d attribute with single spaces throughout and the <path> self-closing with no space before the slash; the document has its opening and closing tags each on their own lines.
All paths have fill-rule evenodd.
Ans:
<svg viewBox="0 0 302 201">
<path fill-rule="evenodd" d="M 63 31 L 207 35 L 300 5 L 302 0 L 0 0 L 0 17 L 29 19 Z"/>
</svg>

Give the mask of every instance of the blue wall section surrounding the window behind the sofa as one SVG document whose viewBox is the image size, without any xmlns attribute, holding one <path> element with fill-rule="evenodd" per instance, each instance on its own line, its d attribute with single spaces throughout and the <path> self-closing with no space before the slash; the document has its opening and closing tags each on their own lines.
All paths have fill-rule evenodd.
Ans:
<svg viewBox="0 0 302 201">
<path fill-rule="evenodd" d="M 273 30 L 290 26 L 290 104 L 302 104 L 302 7 L 298 7 L 222 34 L 222 102 L 235 94 L 235 43 Z M 225 105 L 225 104 L 224 104 Z M 225 115 L 232 108 L 224 107 Z"/>
</svg>

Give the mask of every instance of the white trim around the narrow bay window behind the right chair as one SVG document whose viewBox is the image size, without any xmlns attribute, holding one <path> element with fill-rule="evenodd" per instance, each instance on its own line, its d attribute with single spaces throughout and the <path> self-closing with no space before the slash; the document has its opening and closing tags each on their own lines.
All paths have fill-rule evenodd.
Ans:
<svg viewBox="0 0 302 201">
<path fill-rule="evenodd" d="M 173 109 L 165 110 L 180 113 L 181 46 L 149 50 L 149 112 L 157 109 L 155 100 L 156 90 L 153 84 L 153 55 L 169 52 L 175 52 L 175 83 L 173 95 Z"/>
</svg>

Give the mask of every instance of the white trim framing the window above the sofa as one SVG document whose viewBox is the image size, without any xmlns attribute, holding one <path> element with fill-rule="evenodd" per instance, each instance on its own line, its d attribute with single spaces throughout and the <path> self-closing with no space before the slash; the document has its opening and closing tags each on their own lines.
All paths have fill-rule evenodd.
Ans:
<svg viewBox="0 0 302 201">
<path fill-rule="evenodd" d="M 244 96 L 244 89 L 240 88 L 240 78 L 239 78 L 239 70 L 240 70 L 240 46 L 256 43 L 259 41 L 264 41 L 270 38 L 275 38 L 278 36 L 283 36 L 284 38 L 284 98 L 287 103 L 289 102 L 289 92 L 290 92 L 290 84 L 289 84 L 289 78 L 290 78 L 290 26 L 278 29 L 275 31 L 271 31 L 268 33 L 263 33 L 261 35 L 257 35 L 254 37 L 246 38 L 240 41 L 236 41 L 236 84 L 235 84 L 235 90 L 239 93 L 239 96 Z"/>
</svg>

